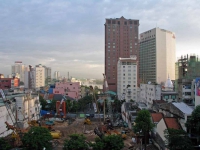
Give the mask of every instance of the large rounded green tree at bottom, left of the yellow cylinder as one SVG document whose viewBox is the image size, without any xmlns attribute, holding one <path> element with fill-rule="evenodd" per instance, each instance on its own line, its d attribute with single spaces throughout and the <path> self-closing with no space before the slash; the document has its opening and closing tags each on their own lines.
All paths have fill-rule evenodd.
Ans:
<svg viewBox="0 0 200 150">
<path fill-rule="evenodd" d="M 48 150 L 52 149 L 52 136 L 48 129 L 42 127 L 32 127 L 22 137 L 22 143 L 25 149 L 43 150 L 45 147 Z"/>
</svg>

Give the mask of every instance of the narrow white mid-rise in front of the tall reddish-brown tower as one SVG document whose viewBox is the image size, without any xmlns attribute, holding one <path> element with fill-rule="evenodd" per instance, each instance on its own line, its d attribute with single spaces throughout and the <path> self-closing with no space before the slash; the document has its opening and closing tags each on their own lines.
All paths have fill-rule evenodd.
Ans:
<svg viewBox="0 0 200 150">
<path fill-rule="evenodd" d="M 137 61 L 136 57 L 119 58 L 117 64 L 118 99 L 137 101 Z"/>
</svg>

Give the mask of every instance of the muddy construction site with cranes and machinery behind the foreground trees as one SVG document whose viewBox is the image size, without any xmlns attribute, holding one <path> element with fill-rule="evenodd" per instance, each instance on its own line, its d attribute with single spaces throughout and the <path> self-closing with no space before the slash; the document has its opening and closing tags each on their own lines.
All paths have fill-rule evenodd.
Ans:
<svg viewBox="0 0 200 150">
<path fill-rule="evenodd" d="M 12 145 L 18 148 L 22 144 L 20 139 L 23 134 L 28 132 L 32 126 L 41 126 L 49 129 L 53 137 L 53 146 L 56 150 L 63 149 L 64 140 L 69 138 L 71 134 L 83 134 L 87 142 L 94 142 L 97 137 L 102 138 L 103 136 L 114 134 L 124 139 L 124 149 L 137 149 L 141 147 L 141 142 L 134 143 L 135 136 L 133 131 L 131 131 L 122 120 L 115 119 L 117 124 L 113 125 L 111 122 L 111 120 L 114 119 L 112 118 L 112 114 L 107 115 L 111 116 L 110 118 L 94 118 L 91 116 L 68 117 L 65 111 L 66 103 L 64 100 L 57 101 L 57 114 L 53 115 L 47 113 L 38 120 L 27 120 L 28 127 L 22 128 L 19 122 L 16 123 L 16 115 L 12 113 L 12 102 L 6 99 L 2 91 L 1 94 L 4 98 L 3 103 L 11 118 L 11 121 L 9 121 L 10 123 L 7 121 L 5 122 L 6 128 L 11 131 L 11 133 L 6 136 L 6 139 L 8 141 L 13 141 Z"/>
</svg>

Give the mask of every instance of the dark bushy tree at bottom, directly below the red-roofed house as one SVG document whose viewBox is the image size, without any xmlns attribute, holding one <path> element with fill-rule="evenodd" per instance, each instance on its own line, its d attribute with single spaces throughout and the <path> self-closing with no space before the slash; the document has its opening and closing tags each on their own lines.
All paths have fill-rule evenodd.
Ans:
<svg viewBox="0 0 200 150">
<path fill-rule="evenodd" d="M 170 150 L 193 149 L 192 142 L 184 130 L 166 129 L 164 133 Z"/>
</svg>

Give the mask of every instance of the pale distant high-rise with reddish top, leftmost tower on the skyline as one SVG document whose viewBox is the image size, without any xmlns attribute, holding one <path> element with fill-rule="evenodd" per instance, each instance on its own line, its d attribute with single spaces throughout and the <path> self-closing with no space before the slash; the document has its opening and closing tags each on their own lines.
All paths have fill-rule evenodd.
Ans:
<svg viewBox="0 0 200 150">
<path fill-rule="evenodd" d="M 24 82 L 24 72 L 25 65 L 21 61 L 15 61 L 15 64 L 11 66 L 11 74 L 14 76 L 18 75 L 21 82 Z"/>
</svg>

